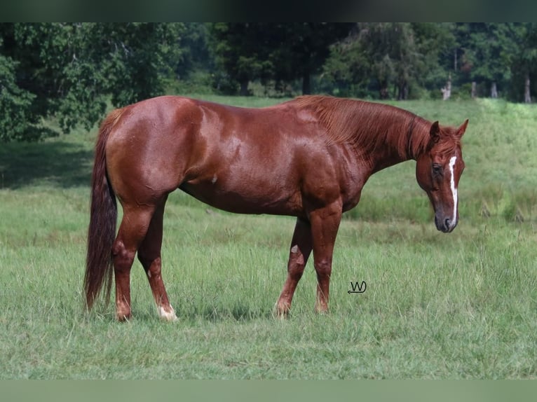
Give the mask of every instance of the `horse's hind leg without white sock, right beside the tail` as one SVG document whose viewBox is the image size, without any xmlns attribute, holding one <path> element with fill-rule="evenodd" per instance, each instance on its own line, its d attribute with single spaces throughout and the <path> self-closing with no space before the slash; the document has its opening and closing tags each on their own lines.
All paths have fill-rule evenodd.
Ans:
<svg viewBox="0 0 537 402">
<path fill-rule="evenodd" d="M 154 207 L 123 205 L 123 219 L 112 246 L 116 279 L 116 318 L 130 319 L 130 268 L 154 214 Z"/>
</svg>

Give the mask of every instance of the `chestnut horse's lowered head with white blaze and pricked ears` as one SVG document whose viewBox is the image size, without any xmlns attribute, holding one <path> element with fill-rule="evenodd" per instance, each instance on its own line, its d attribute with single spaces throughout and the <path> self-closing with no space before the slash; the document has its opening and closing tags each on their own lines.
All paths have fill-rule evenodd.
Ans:
<svg viewBox="0 0 537 402">
<path fill-rule="evenodd" d="M 416 179 L 433 204 L 436 228 L 444 233 L 458 222 L 457 188 L 464 169 L 461 137 L 467 125 L 468 120 L 458 128 L 433 123 L 427 151 L 416 163 Z"/>
</svg>

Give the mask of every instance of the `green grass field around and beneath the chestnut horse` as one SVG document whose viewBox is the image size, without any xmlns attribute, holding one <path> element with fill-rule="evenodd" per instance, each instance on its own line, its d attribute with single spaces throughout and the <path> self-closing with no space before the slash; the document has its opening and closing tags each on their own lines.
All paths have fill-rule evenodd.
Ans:
<svg viewBox="0 0 537 402">
<path fill-rule="evenodd" d="M 224 98 L 262 106 L 273 99 Z M 0 378 L 537 377 L 537 106 L 404 102 L 459 125 L 461 221 L 444 235 L 415 162 L 372 176 L 346 214 L 330 313 L 308 264 L 290 319 L 273 318 L 294 219 L 216 211 L 183 193 L 165 212 L 159 321 L 139 263 L 134 318 L 83 311 L 95 130 L 0 146 Z M 365 293 L 349 294 L 365 281 Z"/>
</svg>

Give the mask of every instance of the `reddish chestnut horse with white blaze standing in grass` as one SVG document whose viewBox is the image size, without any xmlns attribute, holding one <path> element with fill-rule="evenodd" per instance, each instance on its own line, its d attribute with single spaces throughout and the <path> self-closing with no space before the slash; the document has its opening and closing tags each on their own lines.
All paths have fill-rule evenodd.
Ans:
<svg viewBox="0 0 537 402">
<path fill-rule="evenodd" d="M 159 316 L 177 319 L 161 275 L 161 244 L 165 203 L 179 188 L 229 212 L 296 217 L 276 314 L 289 314 L 312 251 L 315 310 L 327 312 L 341 215 L 358 205 L 375 172 L 415 160 L 436 228 L 454 230 L 467 125 L 441 126 L 396 106 L 320 95 L 259 109 L 162 96 L 111 111 L 95 144 L 86 308 L 103 288 L 109 300 L 115 278 L 116 319 L 130 319 L 137 256 Z M 116 200 L 123 208 L 117 235 Z"/>
</svg>

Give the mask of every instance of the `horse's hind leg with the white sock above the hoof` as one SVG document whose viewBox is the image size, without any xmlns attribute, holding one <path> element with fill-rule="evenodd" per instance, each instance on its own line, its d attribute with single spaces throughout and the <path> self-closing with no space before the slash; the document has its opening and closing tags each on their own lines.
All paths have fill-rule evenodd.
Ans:
<svg viewBox="0 0 537 402">
<path fill-rule="evenodd" d="M 138 259 L 144 266 L 147 279 L 149 279 L 149 286 L 151 286 L 151 292 L 155 298 L 158 315 L 167 321 L 175 321 L 177 317 L 168 300 L 168 294 L 161 276 L 161 246 L 166 198 L 155 210 L 153 219 L 149 224 L 149 230 L 147 230 L 147 234 L 138 248 Z"/>
</svg>

